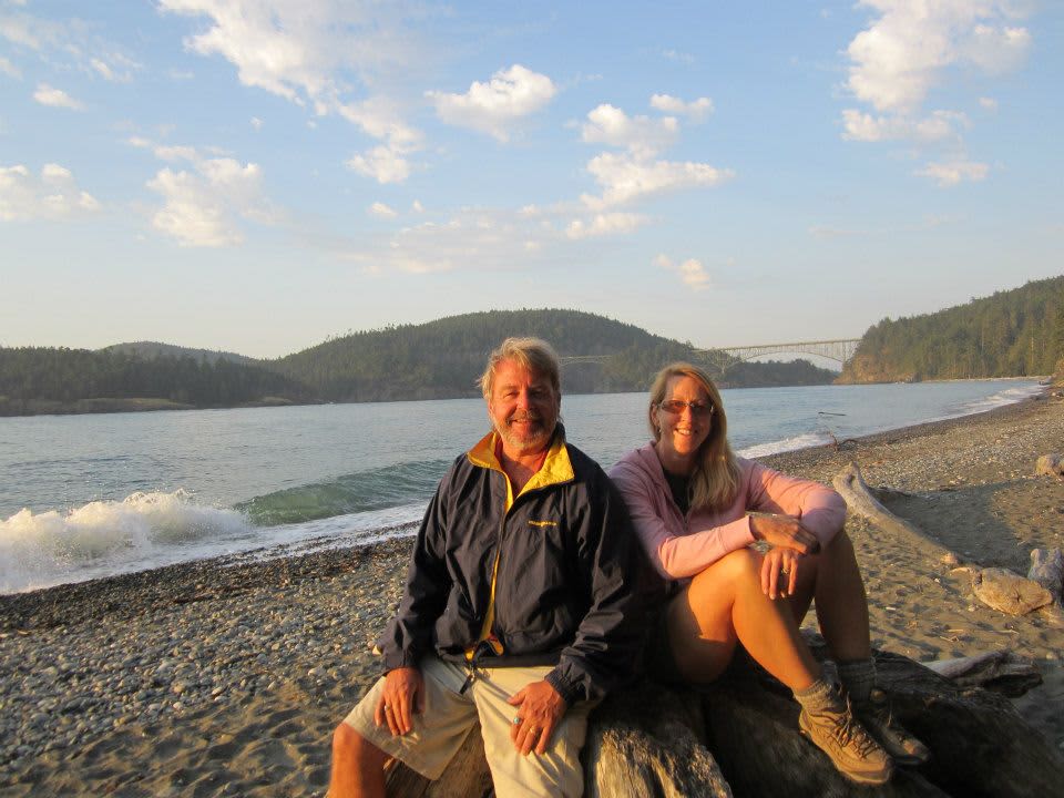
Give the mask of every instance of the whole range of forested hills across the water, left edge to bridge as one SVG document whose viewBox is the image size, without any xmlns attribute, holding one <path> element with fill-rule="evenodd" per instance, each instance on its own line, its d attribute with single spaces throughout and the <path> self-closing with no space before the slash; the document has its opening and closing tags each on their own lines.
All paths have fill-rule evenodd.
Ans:
<svg viewBox="0 0 1064 798">
<path fill-rule="evenodd" d="M 539 336 L 565 358 L 566 393 L 643 391 L 665 364 L 696 359 L 690 344 L 574 310 L 492 310 L 334 338 L 277 360 L 160 344 L 99 351 L 0 348 L 0 416 L 289 402 L 479 396 L 488 354 L 508 336 Z M 237 361 L 239 359 L 239 361 Z M 722 386 L 827 383 L 806 361 L 729 365 Z M 713 369 L 710 369 L 713 370 Z"/>
</svg>

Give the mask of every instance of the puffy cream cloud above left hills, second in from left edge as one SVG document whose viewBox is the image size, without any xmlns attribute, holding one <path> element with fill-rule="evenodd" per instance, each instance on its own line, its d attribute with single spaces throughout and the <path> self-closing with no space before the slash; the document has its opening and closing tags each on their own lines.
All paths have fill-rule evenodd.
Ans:
<svg viewBox="0 0 1064 798">
<path fill-rule="evenodd" d="M 153 226 L 182 246 L 239 244 L 244 241 L 241 221 L 270 224 L 277 218 L 257 164 L 196 157 L 194 171 L 160 170 L 147 187 L 164 200 Z"/>
</svg>

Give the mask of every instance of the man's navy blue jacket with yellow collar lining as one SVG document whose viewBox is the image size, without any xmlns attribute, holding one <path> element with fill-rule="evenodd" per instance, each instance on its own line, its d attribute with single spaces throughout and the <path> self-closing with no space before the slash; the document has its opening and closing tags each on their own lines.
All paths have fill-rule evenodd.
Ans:
<svg viewBox="0 0 1064 798">
<path fill-rule="evenodd" d="M 637 590 L 645 565 L 627 510 L 559 424 L 541 473 L 505 512 L 507 477 L 484 457 L 493 441 L 458 458 L 437 488 L 398 614 L 379 641 L 385 667 L 417 666 L 429 652 L 467 661 L 498 553 L 491 631 L 502 653 L 481 644 L 477 664 L 554 665 L 546 679 L 566 703 L 602 698 L 634 675 L 646 626 Z"/>
</svg>

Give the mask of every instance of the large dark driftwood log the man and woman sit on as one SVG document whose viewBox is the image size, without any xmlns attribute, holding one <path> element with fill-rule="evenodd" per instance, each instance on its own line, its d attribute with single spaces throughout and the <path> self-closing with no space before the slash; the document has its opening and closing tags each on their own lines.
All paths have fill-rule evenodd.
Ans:
<svg viewBox="0 0 1064 798">
<path fill-rule="evenodd" d="M 812 649 L 823 657 L 822 642 L 815 641 Z M 1000 664 L 1007 657 L 998 659 Z M 993 665 L 982 671 L 978 664 L 945 667 L 947 672 L 968 674 L 969 686 L 964 686 L 902 656 L 876 652 L 876 661 L 894 716 L 932 751 L 928 764 L 897 768 L 882 787 L 858 786 L 836 771 L 799 734 L 798 705 L 789 692 L 749 665 L 735 668 L 706 689 L 644 682 L 603 702 L 592 715 L 584 750 L 586 795 L 1061 795 L 1064 755 L 1030 726 L 1004 695 L 970 686 L 994 686 Z M 1025 674 L 998 684 L 1007 684 L 1009 692 L 1016 694 L 1040 682 L 1033 671 Z M 395 770 L 389 779 L 390 796 L 490 795 L 479 729 L 467 739 L 463 759 L 453 763 L 438 782 L 410 779 L 403 766 Z"/>
</svg>

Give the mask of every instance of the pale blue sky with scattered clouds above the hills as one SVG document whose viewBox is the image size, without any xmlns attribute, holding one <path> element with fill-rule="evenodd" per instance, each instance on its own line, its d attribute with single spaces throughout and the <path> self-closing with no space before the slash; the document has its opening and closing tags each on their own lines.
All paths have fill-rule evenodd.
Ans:
<svg viewBox="0 0 1064 798">
<path fill-rule="evenodd" d="M 0 0 L 0 346 L 860 337 L 1064 273 L 1064 3 Z"/>
</svg>

